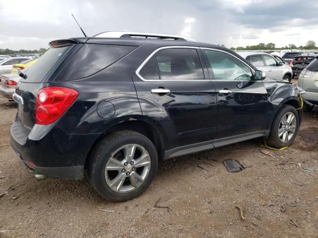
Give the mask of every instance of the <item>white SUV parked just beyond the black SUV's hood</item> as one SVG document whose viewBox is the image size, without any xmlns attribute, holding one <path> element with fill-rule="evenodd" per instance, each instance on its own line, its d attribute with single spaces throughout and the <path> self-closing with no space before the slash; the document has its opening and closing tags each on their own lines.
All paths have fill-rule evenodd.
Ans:
<svg viewBox="0 0 318 238">
<path fill-rule="evenodd" d="M 257 69 L 263 71 L 267 77 L 273 79 L 292 80 L 292 67 L 279 62 L 271 55 L 264 52 L 237 52 L 241 57 L 251 62 Z"/>
</svg>

